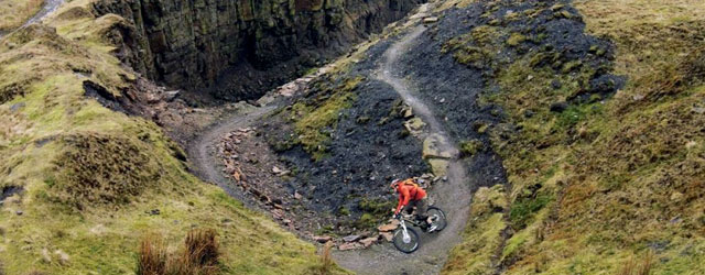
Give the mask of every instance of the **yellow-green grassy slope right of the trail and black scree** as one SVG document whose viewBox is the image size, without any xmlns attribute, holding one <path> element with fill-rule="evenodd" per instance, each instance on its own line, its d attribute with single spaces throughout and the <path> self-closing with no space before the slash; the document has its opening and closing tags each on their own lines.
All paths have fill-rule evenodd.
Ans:
<svg viewBox="0 0 705 275">
<path fill-rule="evenodd" d="M 510 139 L 503 138 L 506 125 L 492 130 L 510 187 L 476 194 L 474 222 L 444 272 L 702 274 L 705 3 L 573 4 L 582 19 L 570 10 L 564 13 L 566 3 L 539 6 L 507 13 L 468 36 L 480 40 L 487 30 L 501 32 L 505 21 L 551 9 L 555 18 L 584 20 L 588 34 L 612 42 L 609 70 L 626 76 L 627 84 L 611 97 L 571 101 L 585 90 L 589 78 L 582 81 L 582 75 L 592 76 L 595 67 L 566 63 L 545 70 L 539 64 L 546 55 L 535 52 L 520 53 L 494 72 L 499 91 L 485 100 L 502 106 L 507 124 L 519 129 Z M 502 47 L 535 38 L 510 38 Z M 609 55 L 601 47 L 589 52 Z M 487 61 L 487 53 L 492 52 L 480 46 L 457 59 L 473 66 Z M 552 84 L 556 79 L 562 86 Z M 561 100 L 570 105 L 556 111 L 554 103 Z M 492 202 L 492 196 L 505 197 L 508 206 L 502 199 Z"/>
</svg>

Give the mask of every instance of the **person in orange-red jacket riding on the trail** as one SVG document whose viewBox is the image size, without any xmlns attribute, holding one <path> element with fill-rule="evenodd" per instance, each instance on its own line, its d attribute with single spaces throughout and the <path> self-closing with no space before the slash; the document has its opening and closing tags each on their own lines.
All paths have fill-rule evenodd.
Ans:
<svg viewBox="0 0 705 275">
<path fill-rule="evenodd" d="M 429 226 L 433 223 L 431 217 L 426 215 L 429 209 L 429 199 L 426 190 L 424 190 L 413 178 L 404 180 L 394 179 L 390 185 L 394 193 L 399 194 L 399 204 L 394 211 L 394 219 L 399 218 L 401 211 L 411 212 L 416 207 L 416 219 L 425 221 Z"/>
</svg>

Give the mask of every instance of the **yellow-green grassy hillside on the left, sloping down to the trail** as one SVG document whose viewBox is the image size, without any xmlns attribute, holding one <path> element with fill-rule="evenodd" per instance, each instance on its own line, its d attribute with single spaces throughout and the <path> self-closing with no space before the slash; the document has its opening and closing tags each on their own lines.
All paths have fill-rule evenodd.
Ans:
<svg viewBox="0 0 705 275">
<path fill-rule="evenodd" d="M 132 273 L 143 237 L 175 251 L 198 228 L 216 230 L 223 273 L 317 272 L 313 245 L 188 174 L 154 123 L 85 96 L 85 80 L 120 97 L 137 78 L 105 38 L 122 19 L 89 2 L 0 41 L 0 274 Z"/>
</svg>

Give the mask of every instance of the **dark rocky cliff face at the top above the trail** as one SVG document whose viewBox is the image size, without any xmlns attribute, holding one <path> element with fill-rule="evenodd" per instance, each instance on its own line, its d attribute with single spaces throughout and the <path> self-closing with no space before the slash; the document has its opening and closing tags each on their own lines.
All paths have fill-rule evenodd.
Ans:
<svg viewBox="0 0 705 275">
<path fill-rule="evenodd" d="M 150 78 L 254 98 L 424 0 L 102 0 L 133 24 L 123 58 Z"/>
</svg>

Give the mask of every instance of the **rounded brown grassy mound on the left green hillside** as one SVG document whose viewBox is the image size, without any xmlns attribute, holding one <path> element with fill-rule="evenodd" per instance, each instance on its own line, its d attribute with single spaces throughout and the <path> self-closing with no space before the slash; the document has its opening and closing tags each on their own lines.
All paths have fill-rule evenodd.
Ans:
<svg viewBox="0 0 705 275">
<path fill-rule="evenodd" d="M 141 141 L 97 133 L 65 136 L 69 150 L 57 164 L 66 169 L 52 183 L 55 199 L 82 210 L 90 204 L 126 204 L 158 183 L 160 165 Z"/>
</svg>

